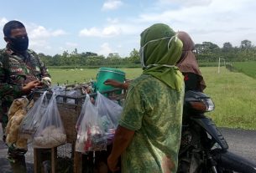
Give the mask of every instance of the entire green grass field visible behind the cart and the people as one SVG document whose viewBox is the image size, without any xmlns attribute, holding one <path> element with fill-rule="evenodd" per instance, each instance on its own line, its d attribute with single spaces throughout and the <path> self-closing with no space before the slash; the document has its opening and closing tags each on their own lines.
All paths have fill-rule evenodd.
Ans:
<svg viewBox="0 0 256 173">
<path fill-rule="evenodd" d="M 254 66 L 255 67 L 255 66 Z M 96 79 L 98 69 L 50 69 L 53 83 L 83 83 Z M 142 69 L 122 69 L 127 79 L 134 79 Z M 256 130 L 256 79 L 242 73 L 230 72 L 224 67 L 202 67 L 206 80 L 205 93 L 212 97 L 216 107 L 207 113 L 217 126 Z"/>
</svg>

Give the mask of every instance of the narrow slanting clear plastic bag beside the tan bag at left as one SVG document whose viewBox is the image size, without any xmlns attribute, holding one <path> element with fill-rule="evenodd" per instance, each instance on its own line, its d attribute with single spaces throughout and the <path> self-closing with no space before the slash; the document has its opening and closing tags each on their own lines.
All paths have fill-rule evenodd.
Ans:
<svg viewBox="0 0 256 173">
<path fill-rule="evenodd" d="M 47 91 L 44 91 L 39 99 L 34 102 L 34 106 L 29 109 L 24 120 L 22 120 L 18 130 L 18 135 L 20 137 L 30 140 L 38 129 L 43 114 L 49 104 L 49 100 L 46 98 L 46 93 Z"/>
</svg>

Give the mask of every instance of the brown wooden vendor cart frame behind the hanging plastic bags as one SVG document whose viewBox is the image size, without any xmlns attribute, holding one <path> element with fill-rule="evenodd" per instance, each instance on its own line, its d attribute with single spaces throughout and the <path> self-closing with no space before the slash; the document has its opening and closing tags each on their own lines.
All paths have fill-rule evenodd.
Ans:
<svg viewBox="0 0 256 173">
<path fill-rule="evenodd" d="M 43 94 L 43 90 L 34 91 L 33 99 L 36 100 L 39 98 L 41 94 Z M 46 95 L 50 99 L 51 92 L 49 91 Z M 120 94 L 120 89 L 112 89 L 106 92 L 102 92 L 110 99 L 115 99 L 118 101 L 122 101 L 124 99 L 124 94 Z M 91 97 L 97 95 L 97 93 L 89 94 Z M 81 113 L 82 104 L 86 98 L 86 95 L 81 95 L 79 97 L 72 97 L 69 95 L 57 95 L 58 101 L 58 109 L 60 112 L 60 117 L 62 123 L 65 128 L 65 133 L 67 137 L 68 149 L 65 148 L 65 152 L 68 152 L 70 155 L 68 157 L 63 158 L 61 156 L 61 147 L 57 146 L 51 149 L 38 149 L 34 148 L 34 172 L 39 173 L 43 172 L 45 169 L 45 160 L 50 160 L 50 172 L 60 172 L 58 167 L 63 166 L 63 164 L 70 164 L 69 170 L 65 170 L 63 172 L 74 172 L 81 173 L 83 169 L 86 167 L 85 161 L 82 158 L 83 155 L 80 152 L 76 152 L 75 144 L 76 144 L 76 121 Z M 71 101 L 73 100 L 73 101 Z M 60 149 L 60 150 L 59 150 Z M 68 151 L 66 151 L 68 150 Z M 94 155 L 94 154 L 93 154 Z M 61 158 L 62 157 L 62 158 Z M 69 160 L 67 162 L 63 160 Z M 62 160 L 62 161 L 61 161 Z M 72 166 L 71 166 L 72 165 Z M 83 168 L 84 167 L 84 168 Z M 62 170 L 61 170 L 62 171 Z"/>
</svg>

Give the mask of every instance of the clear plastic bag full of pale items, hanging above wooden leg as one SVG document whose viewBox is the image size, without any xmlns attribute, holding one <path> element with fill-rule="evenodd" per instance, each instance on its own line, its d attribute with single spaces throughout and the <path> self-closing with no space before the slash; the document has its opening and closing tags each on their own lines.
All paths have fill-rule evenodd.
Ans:
<svg viewBox="0 0 256 173">
<path fill-rule="evenodd" d="M 53 148 L 65 143 L 65 129 L 60 118 L 55 93 L 53 93 L 34 135 L 33 146 L 34 148 Z"/>
</svg>

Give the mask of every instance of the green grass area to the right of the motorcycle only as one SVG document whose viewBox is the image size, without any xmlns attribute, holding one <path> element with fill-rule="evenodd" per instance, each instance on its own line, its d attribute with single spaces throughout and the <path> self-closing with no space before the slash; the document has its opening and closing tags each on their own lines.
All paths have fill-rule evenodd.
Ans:
<svg viewBox="0 0 256 173">
<path fill-rule="evenodd" d="M 205 93 L 215 110 L 208 113 L 218 126 L 256 130 L 256 79 L 221 68 L 201 68 L 206 79 Z"/>
</svg>

